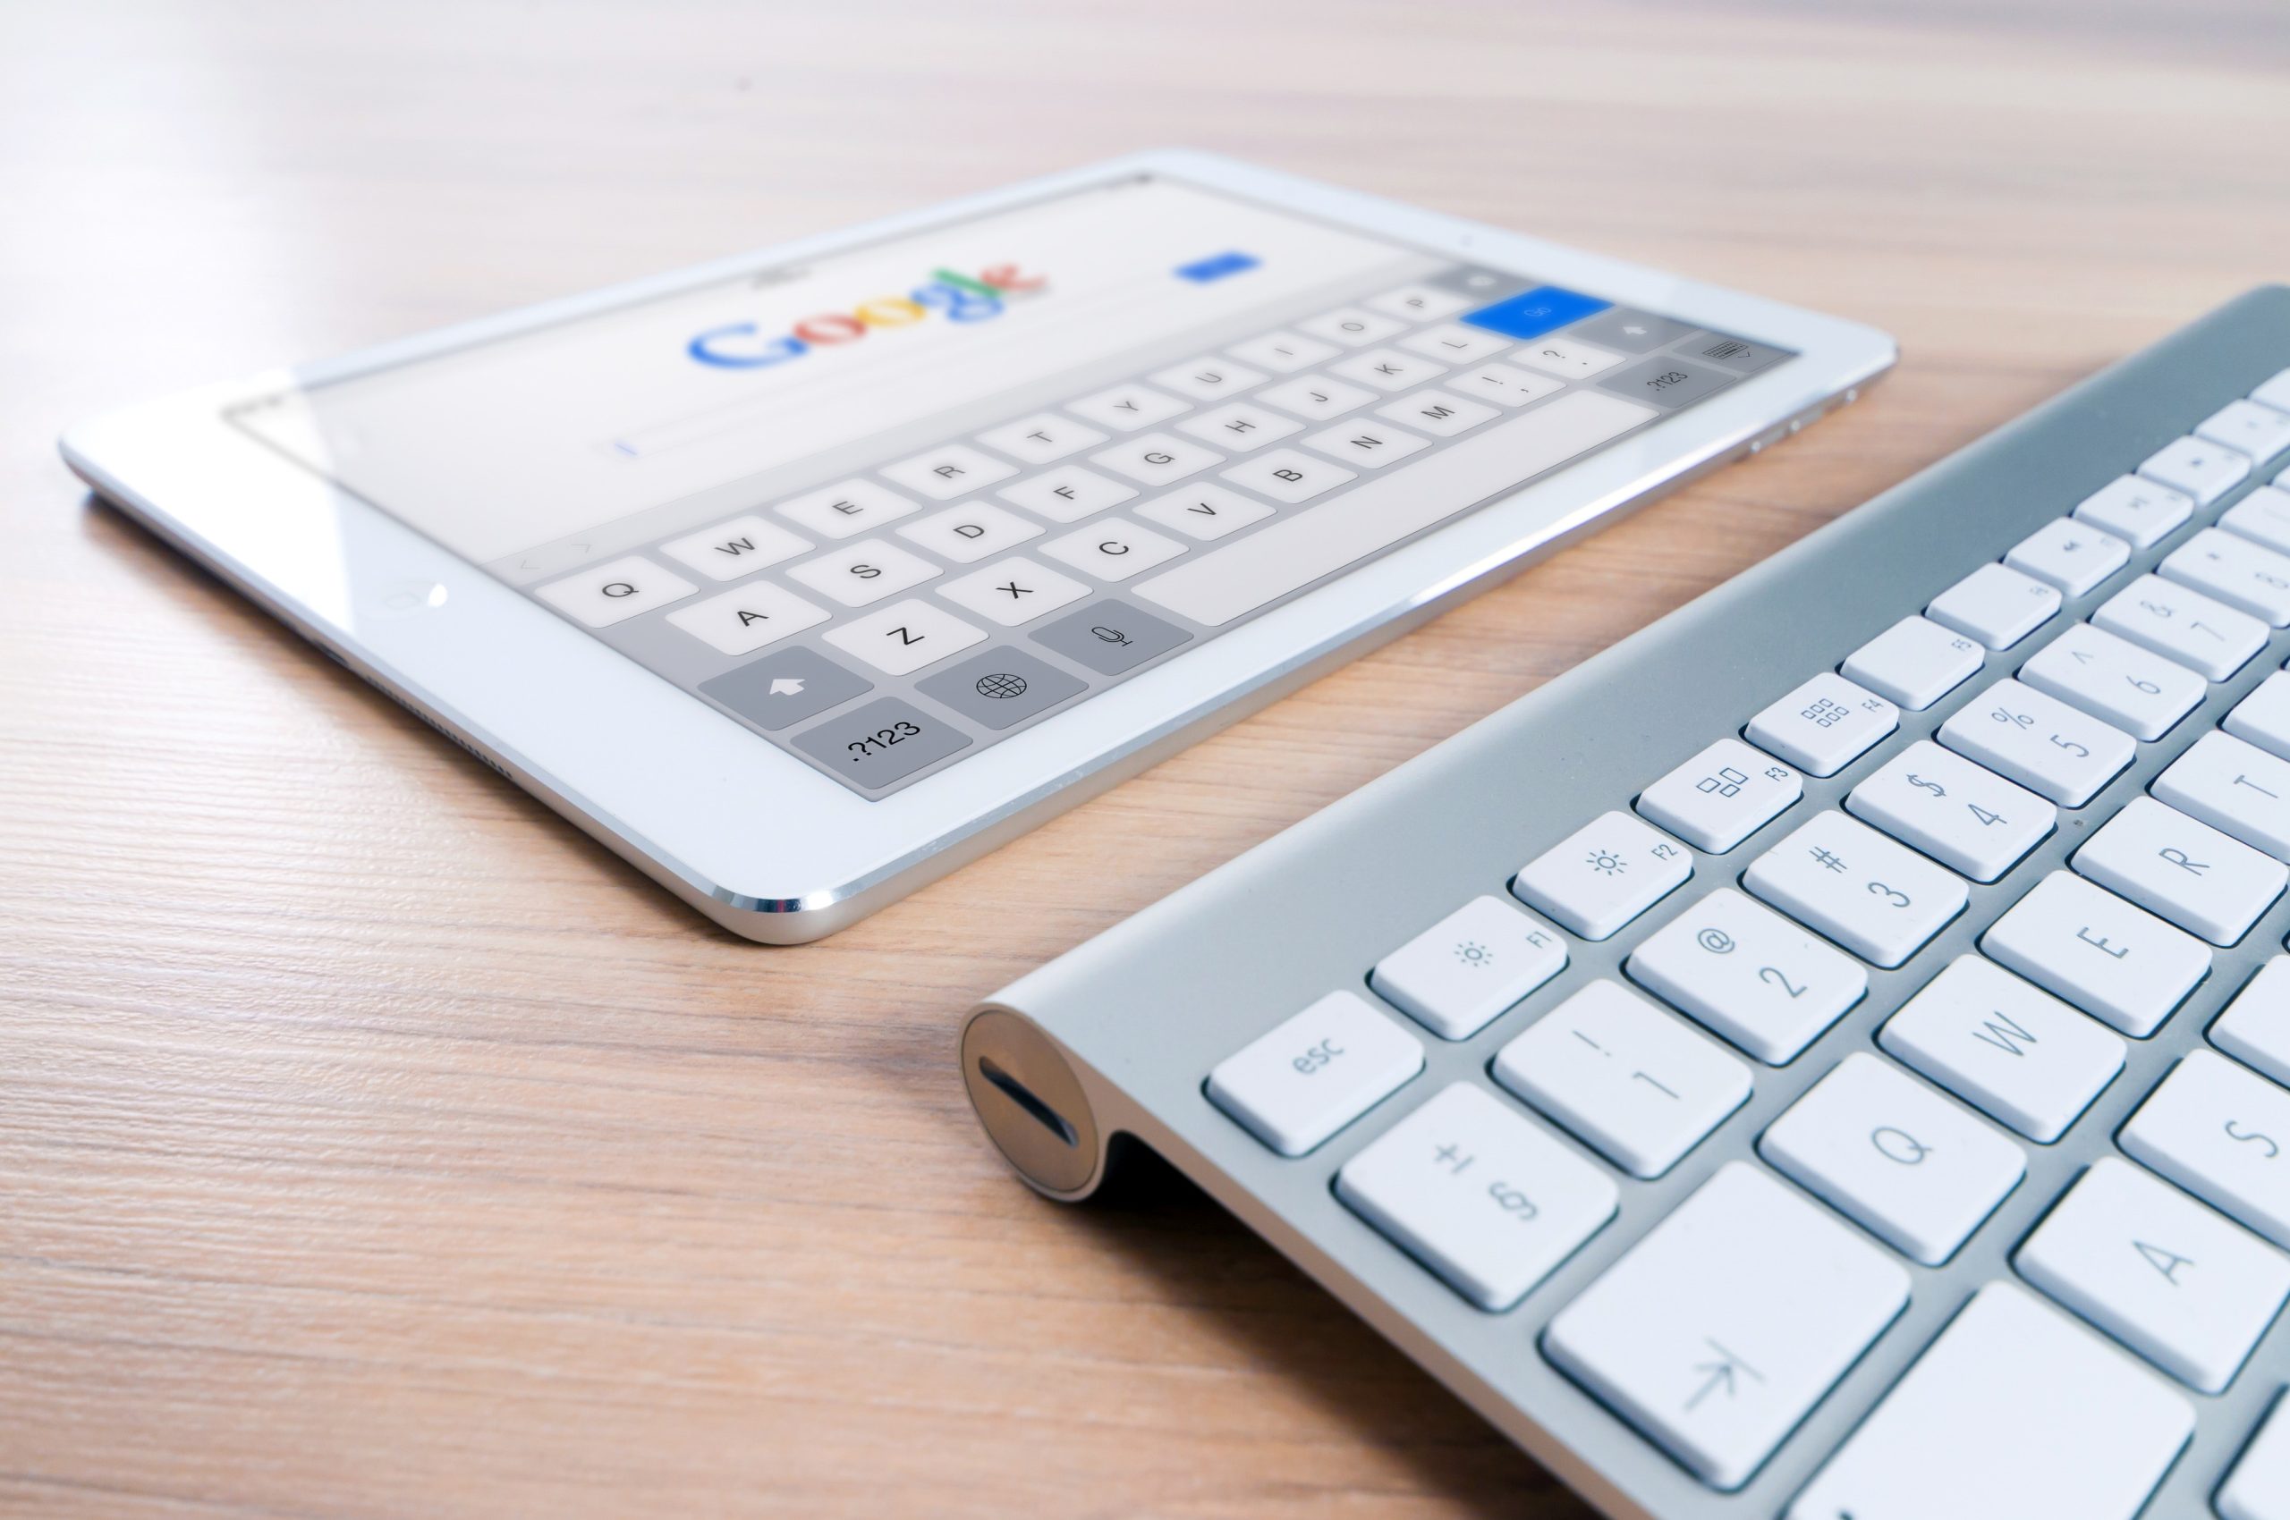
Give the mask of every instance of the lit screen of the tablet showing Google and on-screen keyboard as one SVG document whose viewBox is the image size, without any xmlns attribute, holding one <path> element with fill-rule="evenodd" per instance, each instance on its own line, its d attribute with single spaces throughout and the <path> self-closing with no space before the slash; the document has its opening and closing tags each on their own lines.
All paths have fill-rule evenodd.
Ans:
<svg viewBox="0 0 2290 1520">
<path fill-rule="evenodd" d="M 1136 176 L 231 419 L 884 797 L 1791 357 Z"/>
</svg>

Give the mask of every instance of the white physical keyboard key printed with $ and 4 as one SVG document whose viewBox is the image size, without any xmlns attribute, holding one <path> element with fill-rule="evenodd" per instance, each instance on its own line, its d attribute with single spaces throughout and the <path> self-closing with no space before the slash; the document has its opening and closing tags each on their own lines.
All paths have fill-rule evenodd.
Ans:
<svg viewBox="0 0 2290 1520">
<path fill-rule="evenodd" d="M 2001 877 L 2059 824 L 2045 799 L 1930 739 L 1853 787 L 1846 810 L 1974 881 Z"/>
</svg>

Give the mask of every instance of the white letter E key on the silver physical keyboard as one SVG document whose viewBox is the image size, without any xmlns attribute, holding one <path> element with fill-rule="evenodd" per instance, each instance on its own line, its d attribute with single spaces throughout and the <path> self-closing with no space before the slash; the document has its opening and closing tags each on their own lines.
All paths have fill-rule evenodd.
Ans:
<svg viewBox="0 0 2290 1520">
<path fill-rule="evenodd" d="M 2210 973 L 2210 950 L 2146 909 L 2054 870 L 1981 950 L 2132 1039 L 2146 1039 Z"/>
</svg>

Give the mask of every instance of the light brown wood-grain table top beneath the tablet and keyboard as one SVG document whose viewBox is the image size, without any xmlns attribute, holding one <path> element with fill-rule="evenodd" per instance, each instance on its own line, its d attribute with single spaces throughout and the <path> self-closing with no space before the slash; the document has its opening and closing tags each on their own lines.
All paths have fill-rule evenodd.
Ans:
<svg viewBox="0 0 2290 1520">
<path fill-rule="evenodd" d="M 1170 1172 L 1026 1193 L 964 1106 L 960 1016 L 2290 275 L 2285 66 L 2274 0 L 9 5 L 0 1511 L 1587 1513 Z M 1908 357 L 779 952 L 53 453 L 108 403 L 1154 142 L 1834 309 Z"/>
</svg>

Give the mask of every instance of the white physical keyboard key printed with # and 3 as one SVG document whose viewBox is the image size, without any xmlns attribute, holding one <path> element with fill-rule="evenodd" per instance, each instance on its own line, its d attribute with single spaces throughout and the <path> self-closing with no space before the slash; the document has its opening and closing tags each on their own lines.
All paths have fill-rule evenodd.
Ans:
<svg viewBox="0 0 2290 1520">
<path fill-rule="evenodd" d="M 1963 877 L 1834 808 L 1752 861 L 1740 884 L 1878 966 L 1921 950 L 1972 895 Z"/>
</svg>

